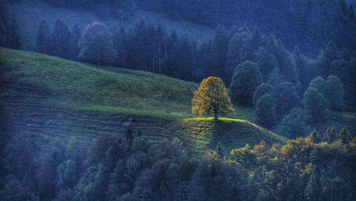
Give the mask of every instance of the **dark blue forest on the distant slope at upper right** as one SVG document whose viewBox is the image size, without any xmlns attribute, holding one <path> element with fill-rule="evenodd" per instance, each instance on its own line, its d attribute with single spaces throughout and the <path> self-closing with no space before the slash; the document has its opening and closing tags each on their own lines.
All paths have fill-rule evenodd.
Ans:
<svg viewBox="0 0 356 201">
<path fill-rule="evenodd" d="M 308 55 L 315 55 L 328 41 L 339 48 L 356 46 L 356 18 L 345 1 L 268 1 L 248 0 L 137 0 L 141 9 L 162 12 L 173 19 L 184 19 L 216 27 L 258 26 L 273 32 L 288 48 L 296 44 Z M 328 30 L 328 31 L 325 31 Z"/>
</svg>

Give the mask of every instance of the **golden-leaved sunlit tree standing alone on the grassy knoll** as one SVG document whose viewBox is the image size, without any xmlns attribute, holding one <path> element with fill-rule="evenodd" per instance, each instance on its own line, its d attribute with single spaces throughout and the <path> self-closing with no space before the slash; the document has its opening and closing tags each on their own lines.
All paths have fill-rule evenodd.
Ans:
<svg viewBox="0 0 356 201">
<path fill-rule="evenodd" d="M 214 113 L 215 120 L 218 119 L 218 114 L 234 113 L 234 108 L 221 78 L 209 77 L 201 81 L 192 100 L 192 113 L 199 115 Z"/>
</svg>

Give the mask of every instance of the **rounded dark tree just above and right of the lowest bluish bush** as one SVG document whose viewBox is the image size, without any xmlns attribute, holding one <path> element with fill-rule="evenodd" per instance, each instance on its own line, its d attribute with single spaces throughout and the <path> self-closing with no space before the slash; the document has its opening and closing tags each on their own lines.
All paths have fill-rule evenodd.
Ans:
<svg viewBox="0 0 356 201">
<path fill-rule="evenodd" d="M 324 98 L 318 89 L 310 87 L 305 91 L 303 105 L 310 123 L 320 123 L 325 120 L 328 100 Z"/>
</svg>

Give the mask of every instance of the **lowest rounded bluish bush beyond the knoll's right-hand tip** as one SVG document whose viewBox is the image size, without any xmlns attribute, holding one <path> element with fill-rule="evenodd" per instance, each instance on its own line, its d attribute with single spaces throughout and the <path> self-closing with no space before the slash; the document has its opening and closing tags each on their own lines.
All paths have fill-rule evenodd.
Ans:
<svg viewBox="0 0 356 201">
<path fill-rule="evenodd" d="M 282 119 L 281 133 L 290 139 L 305 137 L 305 134 L 308 133 L 306 121 L 305 111 L 300 108 L 293 108 Z"/>
</svg>

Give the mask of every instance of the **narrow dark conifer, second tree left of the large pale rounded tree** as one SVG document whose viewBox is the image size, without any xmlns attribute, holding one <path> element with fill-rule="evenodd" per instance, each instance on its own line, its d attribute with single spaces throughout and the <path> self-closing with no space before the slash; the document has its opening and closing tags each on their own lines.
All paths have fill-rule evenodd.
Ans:
<svg viewBox="0 0 356 201">
<path fill-rule="evenodd" d="M 47 22 L 43 19 L 37 29 L 37 51 L 47 54 L 51 47 L 51 36 Z"/>
</svg>

